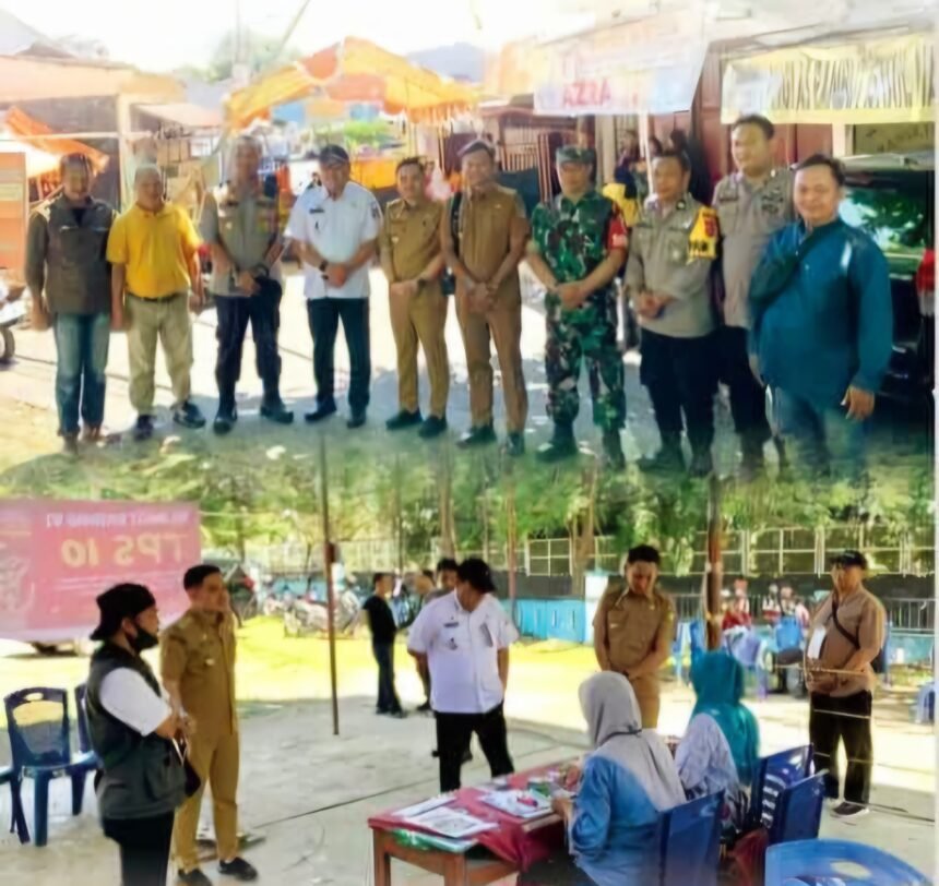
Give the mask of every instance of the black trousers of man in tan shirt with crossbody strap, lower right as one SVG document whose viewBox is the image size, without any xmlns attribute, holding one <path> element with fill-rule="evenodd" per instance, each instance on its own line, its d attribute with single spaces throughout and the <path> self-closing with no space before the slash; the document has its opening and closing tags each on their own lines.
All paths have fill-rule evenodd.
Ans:
<svg viewBox="0 0 939 886">
<path fill-rule="evenodd" d="M 866 805 L 870 799 L 870 775 L 873 769 L 873 741 L 870 737 L 870 713 L 873 696 L 858 692 L 845 698 L 812 693 L 809 703 L 809 739 L 816 770 L 828 769 L 825 795 L 839 795 L 837 746 L 844 742 L 847 771 L 844 799 Z"/>
</svg>

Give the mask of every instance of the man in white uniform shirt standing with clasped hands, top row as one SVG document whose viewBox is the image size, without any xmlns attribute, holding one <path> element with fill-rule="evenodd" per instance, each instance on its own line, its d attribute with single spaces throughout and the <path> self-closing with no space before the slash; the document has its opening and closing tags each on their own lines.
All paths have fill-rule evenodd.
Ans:
<svg viewBox="0 0 939 886">
<path fill-rule="evenodd" d="M 368 271 L 381 230 L 372 193 L 349 181 L 349 155 L 338 145 L 320 152 L 322 185 L 305 191 L 290 212 L 286 236 L 304 264 L 304 295 L 313 337 L 317 408 L 308 422 L 336 411 L 333 355 L 342 320 L 349 349 L 349 428 L 365 424 L 371 380 Z"/>
</svg>

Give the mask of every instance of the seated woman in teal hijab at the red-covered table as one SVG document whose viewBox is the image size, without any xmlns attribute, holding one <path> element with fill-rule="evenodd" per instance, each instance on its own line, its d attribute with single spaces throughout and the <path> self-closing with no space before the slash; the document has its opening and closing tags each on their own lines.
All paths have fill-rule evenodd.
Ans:
<svg viewBox="0 0 939 886">
<path fill-rule="evenodd" d="M 744 826 L 760 753 L 757 718 L 741 704 L 745 671 L 727 652 L 708 652 L 691 669 L 698 702 L 675 753 L 689 800 L 726 791 L 725 831 Z"/>
</svg>

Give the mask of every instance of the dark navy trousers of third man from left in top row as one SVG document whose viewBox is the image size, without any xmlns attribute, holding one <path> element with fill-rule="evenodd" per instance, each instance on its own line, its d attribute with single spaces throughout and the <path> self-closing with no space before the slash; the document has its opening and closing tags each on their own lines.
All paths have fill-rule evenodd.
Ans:
<svg viewBox="0 0 939 886">
<path fill-rule="evenodd" d="M 280 400 L 277 328 L 281 325 L 281 297 L 268 294 L 215 296 L 215 308 L 218 315 L 215 381 L 218 384 L 219 410 L 230 411 L 235 408 L 235 385 L 241 378 L 241 354 L 249 322 L 254 339 L 258 376 L 264 385 L 264 399 L 270 403 Z"/>
</svg>

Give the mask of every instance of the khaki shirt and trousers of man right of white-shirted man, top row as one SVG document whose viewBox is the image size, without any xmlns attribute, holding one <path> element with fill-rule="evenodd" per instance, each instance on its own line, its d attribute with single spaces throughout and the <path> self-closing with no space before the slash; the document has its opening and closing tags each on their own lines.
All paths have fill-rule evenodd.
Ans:
<svg viewBox="0 0 939 886">
<path fill-rule="evenodd" d="M 390 283 L 416 279 L 440 254 L 443 204 L 404 200 L 389 204 L 379 237 L 382 264 L 393 272 Z M 397 347 L 397 399 L 403 412 L 417 412 L 417 344 L 424 348 L 430 379 L 430 415 L 447 415 L 450 363 L 447 356 L 447 297 L 440 280 L 419 282 L 416 296 L 391 298 L 391 330 Z"/>
</svg>

